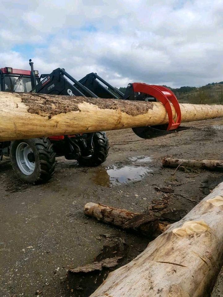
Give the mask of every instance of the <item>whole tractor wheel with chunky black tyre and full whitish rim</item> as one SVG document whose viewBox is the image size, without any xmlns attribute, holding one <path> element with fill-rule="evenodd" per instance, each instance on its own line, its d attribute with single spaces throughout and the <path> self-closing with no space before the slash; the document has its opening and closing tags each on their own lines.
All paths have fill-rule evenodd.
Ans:
<svg viewBox="0 0 223 297">
<path fill-rule="evenodd" d="M 53 144 L 46 137 L 11 141 L 11 165 L 24 183 L 49 180 L 55 170 L 55 156 Z"/>
</svg>

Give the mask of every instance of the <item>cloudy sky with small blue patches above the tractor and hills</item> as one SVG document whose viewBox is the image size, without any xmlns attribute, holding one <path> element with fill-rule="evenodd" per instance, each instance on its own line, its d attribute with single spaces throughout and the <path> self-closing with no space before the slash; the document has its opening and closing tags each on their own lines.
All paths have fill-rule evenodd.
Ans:
<svg viewBox="0 0 223 297">
<path fill-rule="evenodd" d="M 0 67 L 129 82 L 223 80 L 222 0 L 0 0 Z"/>
</svg>

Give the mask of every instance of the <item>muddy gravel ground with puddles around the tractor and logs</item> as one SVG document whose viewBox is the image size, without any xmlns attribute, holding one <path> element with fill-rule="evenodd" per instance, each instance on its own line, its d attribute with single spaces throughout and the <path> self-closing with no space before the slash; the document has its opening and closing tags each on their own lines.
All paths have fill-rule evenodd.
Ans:
<svg viewBox="0 0 223 297">
<path fill-rule="evenodd" d="M 222 125 L 222 119 L 190 123 L 191 130 L 152 140 L 130 129 L 108 131 L 110 155 L 102 166 L 81 168 L 60 157 L 51 181 L 37 186 L 20 183 L 5 158 L 0 164 L 0 296 L 35 296 L 38 290 L 39 296 L 73 296 L 66 269 L 92 262 L 107 240 L 102 234 L 125 239 L 130 247 L 125 262 L 135 257 L 148 239 L 86 217 L 85 203 L 144 212 L 152 200 L 165 198 L 167 207 L 154 213 L 181 210 L 177 216 L 182 216 L 223 181 L 223 174 L 177 170 L 172 175 L 174 169 L 162 168 L 162 158 L 222 160 Z M 155 190 L 173 181 L 180 183 L 174 193 L 164 197 Z"/>
</svg>

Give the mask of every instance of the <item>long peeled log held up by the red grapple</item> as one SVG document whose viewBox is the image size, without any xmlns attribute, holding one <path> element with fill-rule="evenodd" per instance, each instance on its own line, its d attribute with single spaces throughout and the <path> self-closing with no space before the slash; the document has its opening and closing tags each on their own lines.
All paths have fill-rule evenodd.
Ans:
<svg viewBox="0 0 223 297">
<path fill-rule="evenodd" d="M 0 141 L 168 123 L 159 102 L 0 92 L 0 105 Z M 182 122 L 223 117 L 222 105 L 180 107 Z"/>
</svg>

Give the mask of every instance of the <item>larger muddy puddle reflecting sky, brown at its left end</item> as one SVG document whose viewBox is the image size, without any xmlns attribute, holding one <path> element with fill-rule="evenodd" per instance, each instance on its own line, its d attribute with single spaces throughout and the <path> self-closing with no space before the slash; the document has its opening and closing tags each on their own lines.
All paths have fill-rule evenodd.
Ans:
<svg viewBox="0 0 223 297">
<path fill-rule="evenodd" d="M 111 187 L 119 185 L 120 183 L 130 183 L 132 181 L 138 181 L 152 172 L 151 169 L 142 166 L 111 166 L 107 168 L 98 168 L 93 181 L 97 185 L 103 187 Z"/>
</svg>

